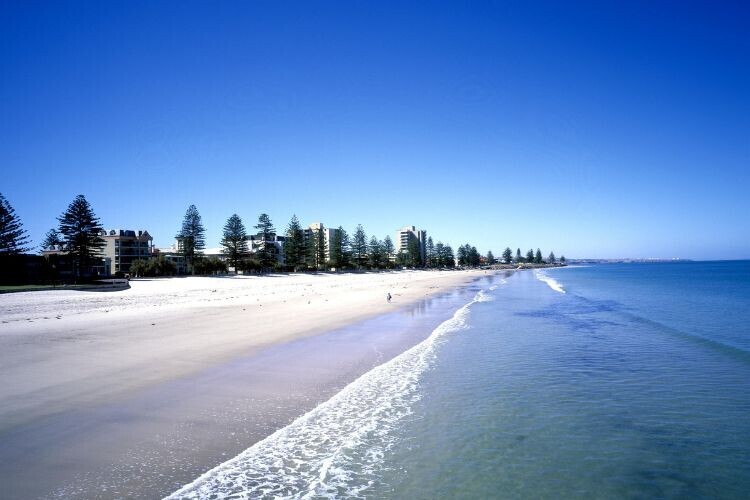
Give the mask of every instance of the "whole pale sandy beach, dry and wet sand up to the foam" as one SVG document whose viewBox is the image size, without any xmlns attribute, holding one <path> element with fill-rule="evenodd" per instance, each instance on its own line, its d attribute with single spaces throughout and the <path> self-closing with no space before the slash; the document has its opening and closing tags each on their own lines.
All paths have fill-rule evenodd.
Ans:
<svg viewBox="0 0 750 500">
<path fill-rule="evenodd" d="M 15 478 L 15 483 L 5 482 L 15 486 L 3 493 L 60 494 L 61 485 L 55 483 L 64 479 L 68 489 L 63 494 L 76 496 L 70 480 L 85 473 L 92 458 L 108 460 L 107 450 L 117 448 L 118 441 L 144 435 L 153 440 L 178 417 L 197 413 L 212 430 L 192 442 L 192 450 L 176 451 L 182 445 L 170 448 L 161 443 L 151 450 L 145 444 L 140 453 L 144 462 L 151 457 L 151 468 L 163 465 L 168 455 L 191 454 L 198 459 L 190 462 L 192 469 L 184 476 L 201 472 L 226 453 L 226 443 L 214 443 L 213 448 L 211 444 L 224 433 L 219 428 L 221 416 L 204 415 L 212 405 L 224 405 L 227 399 L 222 397 L 229 394 L 236 401 L 240 394 L 253 396 L 252 411 L 236 409 L 245 411 L 245 433 L 230 451 L 239 451 L 251 444 L 248 440 L 273 432 L 421 337 L 413 332 L 382 337 L 377 345 L 352 337 L 338 351 L 336 339 L 326 341 L 328 346 L 321 341 L 299 343 L 300 339 L 312 340 L 344 325 L 408 310 L 483 275 L 484 271 L 403 271 L 195 277 L 133 280 L 129 289 L 110 292 L 0 296 L 0 443 L 6 463 L 0 474 Z M 387 293 L 393 296 L 390 303 Z M 400 317 L 389 321 L 394 330 L 403 323 Z M 191 400 L 198 388 L 216 399 Z M 247 415 L 255 415 L 252 422 Z M 237 425 L 238 419 L 232 422 L 227 426 Z M 237 432 L 242 434 L 239 428 Z M 156 448 L 160 451 L 154 454 Z M 58 479 L 26 489 L 39 473 L 29 472 L 27 462 L 54 469 L 52 477 Z M 61 467 L 71 470 L 61 472 Z M 132 474 L 128 477 L 137 483 Z M 123 491 L 156 490 L 139 490 L 136 485 Z M 78 493 L 91 496 L 88 489 Z M 111 496 L 110 490 L 101 494 Z"/>
</svg>

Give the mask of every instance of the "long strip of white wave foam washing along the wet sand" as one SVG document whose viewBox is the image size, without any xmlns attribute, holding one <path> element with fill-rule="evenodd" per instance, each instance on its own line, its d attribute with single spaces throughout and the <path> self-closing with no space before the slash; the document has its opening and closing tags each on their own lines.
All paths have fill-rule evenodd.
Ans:
<svg viewBox="0 0 750 500">
<path fill-rule="evenodd" d="M 366 496 L 396 442 L 396 424 L 420 399 L 419 381 L 436 345 L 465 328 L 470 306 L 487 297 L 477 293 L 421 343 L 167 499 Z"/>
</svg>

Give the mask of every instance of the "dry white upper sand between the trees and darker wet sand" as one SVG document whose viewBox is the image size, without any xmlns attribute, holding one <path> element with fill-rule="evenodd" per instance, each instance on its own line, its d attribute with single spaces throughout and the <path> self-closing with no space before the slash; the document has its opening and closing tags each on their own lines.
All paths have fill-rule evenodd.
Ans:
<svg viewBox="0 0 750 500">
<path fill-rule="evenodd" d="M 382 314 L 479 274 L 196 277 L 0 295 L 0 431 Z"/>
</svg>

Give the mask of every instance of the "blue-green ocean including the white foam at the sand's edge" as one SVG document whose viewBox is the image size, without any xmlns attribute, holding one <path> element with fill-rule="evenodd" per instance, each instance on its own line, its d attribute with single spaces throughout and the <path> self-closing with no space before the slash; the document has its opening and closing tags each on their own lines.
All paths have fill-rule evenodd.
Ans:
<svg viewBox="0 0 750 500">
<path fill-rule="evenodd" d="M 488 275 L 171 498 L 746 498 L 750 261 Z"/>
</svg>

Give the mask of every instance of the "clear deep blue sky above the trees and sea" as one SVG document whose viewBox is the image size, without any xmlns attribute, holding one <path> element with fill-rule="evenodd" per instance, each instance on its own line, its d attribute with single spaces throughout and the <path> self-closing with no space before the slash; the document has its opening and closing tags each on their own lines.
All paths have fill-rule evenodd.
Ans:
<svg viewBox="0 0 750 500">
<path fill-rule="evenodd" d="M 0 4 L 0 192 L 568 257 L 750 257 L 743 2 Z M 613 2 L 615 3 L 615 2 Z"/>
</svg>

